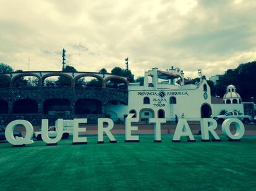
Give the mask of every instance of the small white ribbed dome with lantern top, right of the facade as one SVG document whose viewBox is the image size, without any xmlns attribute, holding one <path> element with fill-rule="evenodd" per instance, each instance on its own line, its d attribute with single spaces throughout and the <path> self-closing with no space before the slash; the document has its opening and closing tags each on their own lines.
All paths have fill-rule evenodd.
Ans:
<svg viewBox="0 0 256 191">
<path fill-rule="evenodd" d="M 230 84 L 223 96 L 223 104 L 241 104 L 241 96 L 236 92 L 236 87 Z"/>
</svg>

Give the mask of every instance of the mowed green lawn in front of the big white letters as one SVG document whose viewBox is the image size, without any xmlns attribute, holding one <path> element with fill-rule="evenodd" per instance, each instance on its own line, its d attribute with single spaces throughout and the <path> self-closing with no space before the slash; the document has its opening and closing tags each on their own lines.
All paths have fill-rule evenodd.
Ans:
<svg viewBox="0 0 256 191">
<path fill-rule="evenodd" d="M 255 190 L 256 137 L 241 142 L 0 144 L 0 190 Z"/>
</svg>

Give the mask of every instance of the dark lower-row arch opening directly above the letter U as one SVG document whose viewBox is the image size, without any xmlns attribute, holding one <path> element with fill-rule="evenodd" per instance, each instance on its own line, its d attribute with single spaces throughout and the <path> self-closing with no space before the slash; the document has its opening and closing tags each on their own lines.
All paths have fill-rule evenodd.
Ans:
<svg viewBox="0 0 256 191">
<path fill-rule="evenodd" d="M 46 115 L 70 115 L 68 99 L 47 99 L 43 103 L 43 113 Z"/>
</svg>

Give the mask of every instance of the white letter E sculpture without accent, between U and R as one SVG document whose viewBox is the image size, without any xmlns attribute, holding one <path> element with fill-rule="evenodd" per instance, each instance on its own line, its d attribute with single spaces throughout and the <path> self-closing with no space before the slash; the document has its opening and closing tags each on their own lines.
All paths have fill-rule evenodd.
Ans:
<svg viewBox="0 0 256 191">
<path fill-rule="evenodd" d="M 79 132 L 86 132 L 86 128 L 79 128 L 79 123 L 87 123 L 87 118 L 74 119 L 73 145 L 87 144 L 87 137 L 79 137 Z"/>
</svg>

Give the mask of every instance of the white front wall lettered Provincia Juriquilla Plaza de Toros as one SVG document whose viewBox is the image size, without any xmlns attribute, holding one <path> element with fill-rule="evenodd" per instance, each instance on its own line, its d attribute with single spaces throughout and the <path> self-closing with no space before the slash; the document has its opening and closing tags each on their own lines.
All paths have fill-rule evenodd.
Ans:
<svg viewBox="0 0 256 191">
<path fill-rule="evenodd" d="M 189 118 L 189 120 L 198 120 L 201 118 L 202 104 L 207 103 L 211 105 L 210 87 L 207 84 L 208 98 L 205 100 L 203 98 L 203 84 L 207 84 L 207 82 L 203 80 L 197 88 L 195 88 L 196 86 L 176 86 L 177 89 L 158 88 L 153 90 L 151 88 L 145 89 L 144 87 L 143 90 L 141 88 L 135 90 L 136 87 L 132 87 L 132 89 L 129 87 L 129 110 L 134 109 L 136 110 L 137 115 L 139 115 L 140 110 L 143 108 L 151 108 L 154 110 L 155 116 L 157 116 L 158 110 L 163 109 L 165 112 L 165 118 L 174 118 L 175 114 L 181 118 L 182 113 L 184 113 L 185 118 Z M 164 84 L 164 86 L 167 86 L 167 84 Z M 171 85 L 169 85 L 169 87 L 171 87 Z M 184 87 L 187 87 L 187 89 Z M 161 100 L 161 97 L 158 95 L 160 91 L 164 91 L 166 93 L 163 100 Z M 172 93 L 177 92 L 183 92 L 183 94 L 187 92 L 188 95 L 171 95 Z M 169 104 L 169 98 L 171 96 L 176 97 L 177 100 L 177 104 L 173 105 L 173 112 L 171 112 L 171 106 Z M 150 104 L 143 104 L 144 97 L 150 98 Z M 160 100 L 160 104 L 156 101 L 158 99 Z"/>
</svg>

